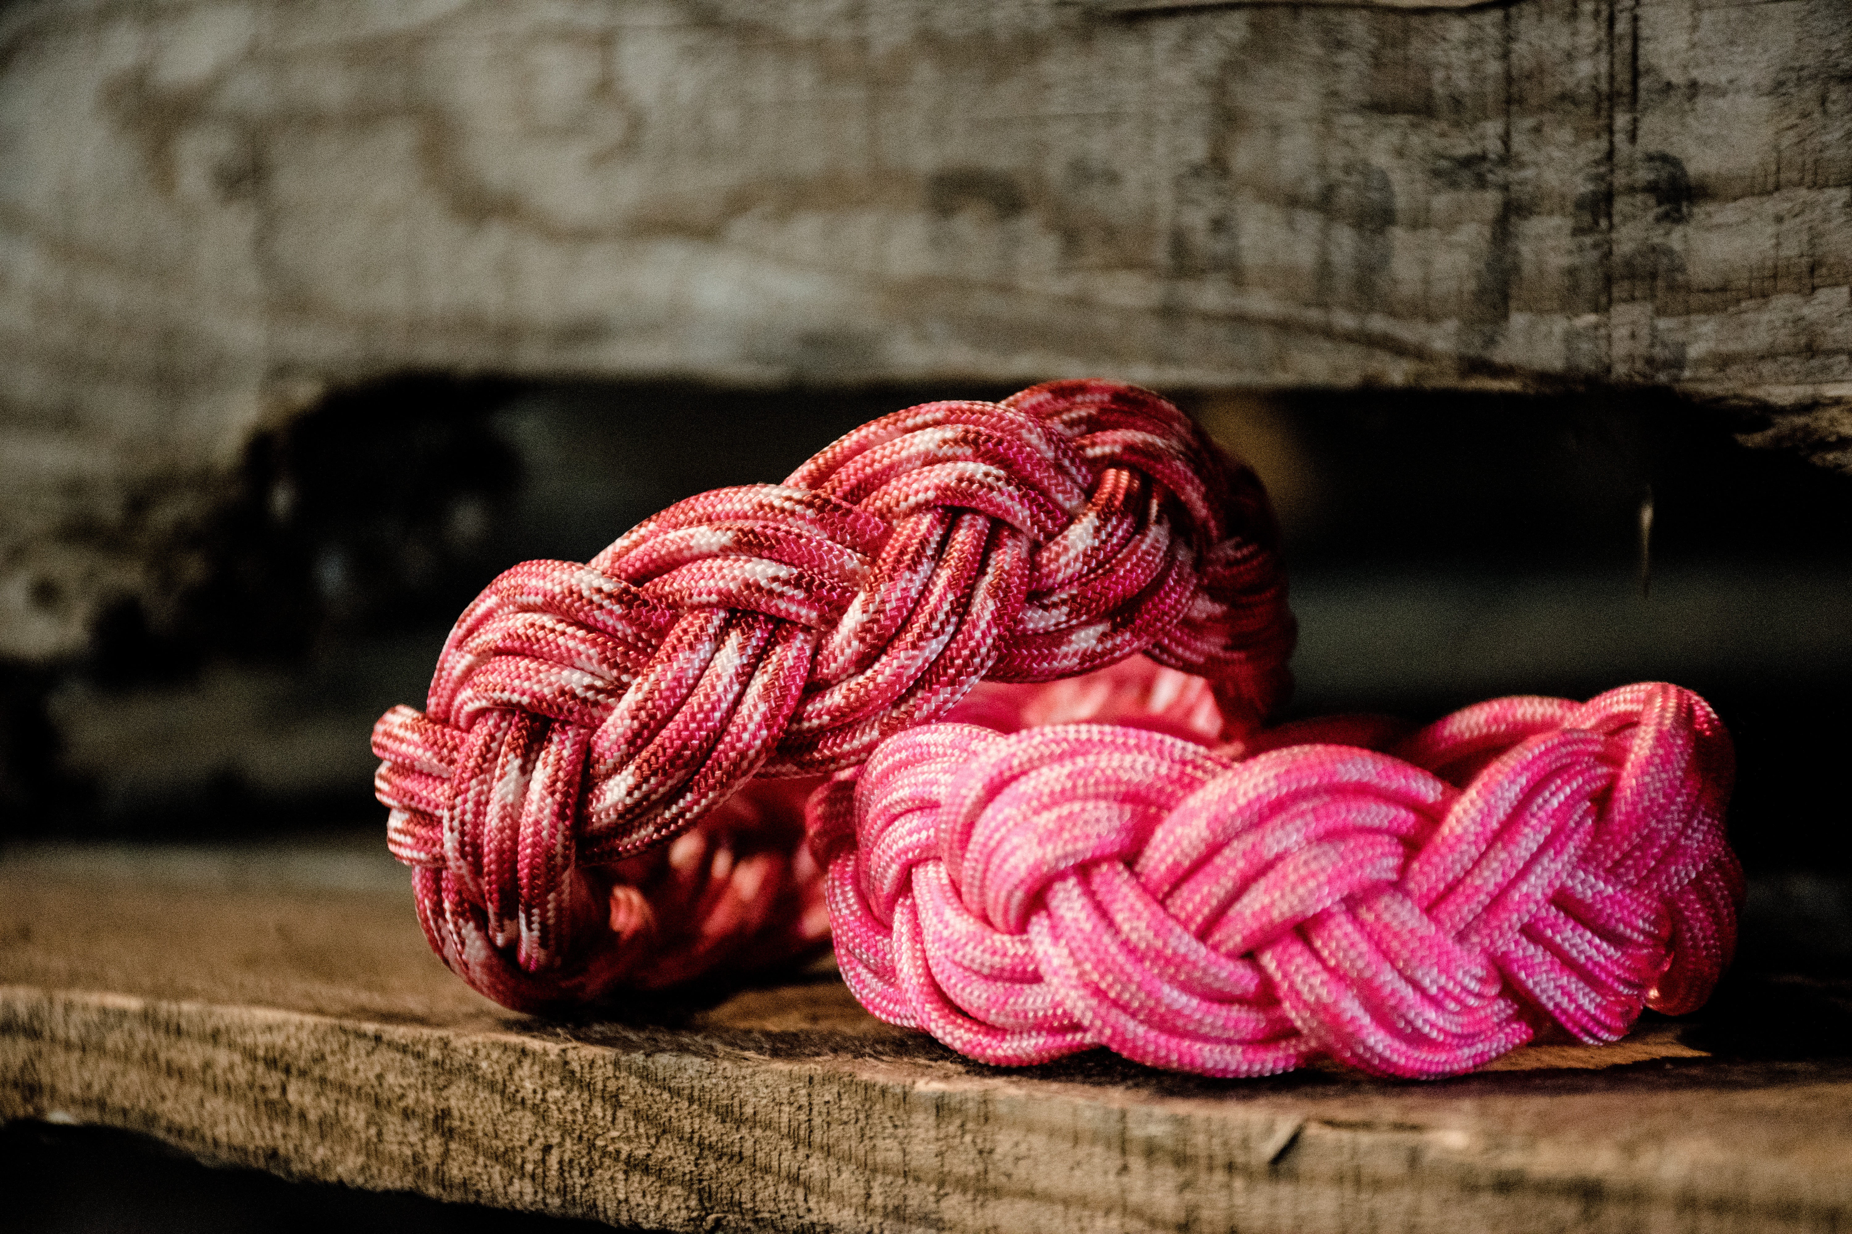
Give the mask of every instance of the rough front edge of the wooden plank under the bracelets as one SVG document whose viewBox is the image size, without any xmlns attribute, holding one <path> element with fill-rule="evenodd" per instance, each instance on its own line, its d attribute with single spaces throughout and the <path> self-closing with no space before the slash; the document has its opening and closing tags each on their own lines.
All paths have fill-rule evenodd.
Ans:
<svg viewBox="0 0 1852 1234">
<path fill-rule="evenodd" d="M 652 1228 L 1339 1230 L 1439 1217 L 1554 1230 L 1591 1210 L 1613 1228 L 1809 1228 L 1848 1204 L 1830 1154 L 1771 1158 L 1733 1138 L 1732 1123 L 1735 1136 L 1750 1129 L 1724 1093 L 1689 1112 L 1715 1136 L 1624 1145 L 1600 1117 L 1617 1117 L 1608 1103 L 1587 1110 L 1585 1134 L 1539 1134 L 1517 1106 L 1541 1092 L 1439 1104 L 1408 1092 L 1417 1101 L 1150 1101 L 880 1055 L 626 1049 L 0 990 L 0 1116 L 124 1127 L 294 1178 Z"/>
</svg>

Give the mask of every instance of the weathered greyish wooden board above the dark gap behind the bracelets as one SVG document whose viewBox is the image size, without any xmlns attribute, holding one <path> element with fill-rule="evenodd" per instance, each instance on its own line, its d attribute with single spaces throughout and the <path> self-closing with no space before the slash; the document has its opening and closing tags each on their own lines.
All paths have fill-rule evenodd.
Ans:
<svg viewBox="0 0 1852 1234">
<path fill-rule="evenodd" d="M 1843 0 L 17 2 L 0 655 L 407 368 L 1652 383 L 1848 464 L 1848 122 Z"/>
</svg>

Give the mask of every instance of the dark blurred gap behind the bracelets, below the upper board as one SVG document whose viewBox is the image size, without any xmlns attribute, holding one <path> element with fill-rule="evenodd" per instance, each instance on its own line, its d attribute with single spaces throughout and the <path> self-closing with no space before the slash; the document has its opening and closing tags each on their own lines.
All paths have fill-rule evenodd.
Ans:
<svg viewBox="0 0 1852 1234">
<path fill-rule="evenodd" d="M 157 635 L 135 599 L 91 651 L 9 666 L 13 838 L 383 834 L 367 733 L 420 705 L 500 570 L 583 561 L 720 485 L 776 481 L 946 383 L 856 390 L 409 376 L 259 435 Z M 1663 679 L 1735 734 L 1750 951 L 1852 960 L 1833 801 L 1852 686 L 1852 477 L 1745 450 L 1656 392 L 1167 390 L 1267 481 L 1300 620 L 1289 716 L 1428 720 L 1498 694 Z"/>
</svg>

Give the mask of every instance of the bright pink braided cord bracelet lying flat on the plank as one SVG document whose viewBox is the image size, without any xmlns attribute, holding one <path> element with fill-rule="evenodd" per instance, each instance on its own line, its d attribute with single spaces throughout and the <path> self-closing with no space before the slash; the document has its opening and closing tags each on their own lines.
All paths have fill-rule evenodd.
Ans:
<svg viewBox="0 0 1852 1234">
<path fill-rule="evenodd" d="M 893 736 L 809 801 L 843 975 L 982 1062 L 1106 1045 L 1209 1075 L 1452 1075 L 1709 995 L 1743 879 L 1698 696 L 1508 697 L 1335 744 L 1389 736 Z"/>
</svg>

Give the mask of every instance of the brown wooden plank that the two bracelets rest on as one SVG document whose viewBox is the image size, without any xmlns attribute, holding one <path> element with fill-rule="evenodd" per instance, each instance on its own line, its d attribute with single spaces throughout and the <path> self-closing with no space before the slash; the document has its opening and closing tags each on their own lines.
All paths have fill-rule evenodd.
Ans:
<svg viewBox="0 0 1852 1234">
<path fill-rule="evenodd" d="M 207 1160 L 672 1230 L 1826 1230 L 1852 1062 L 1658 1021 L 1437 1084 L 1002 1071 L 828 973 L 507 1016 L 339 849 L 0 862 L 0 1117 Z"/>
</svg>

